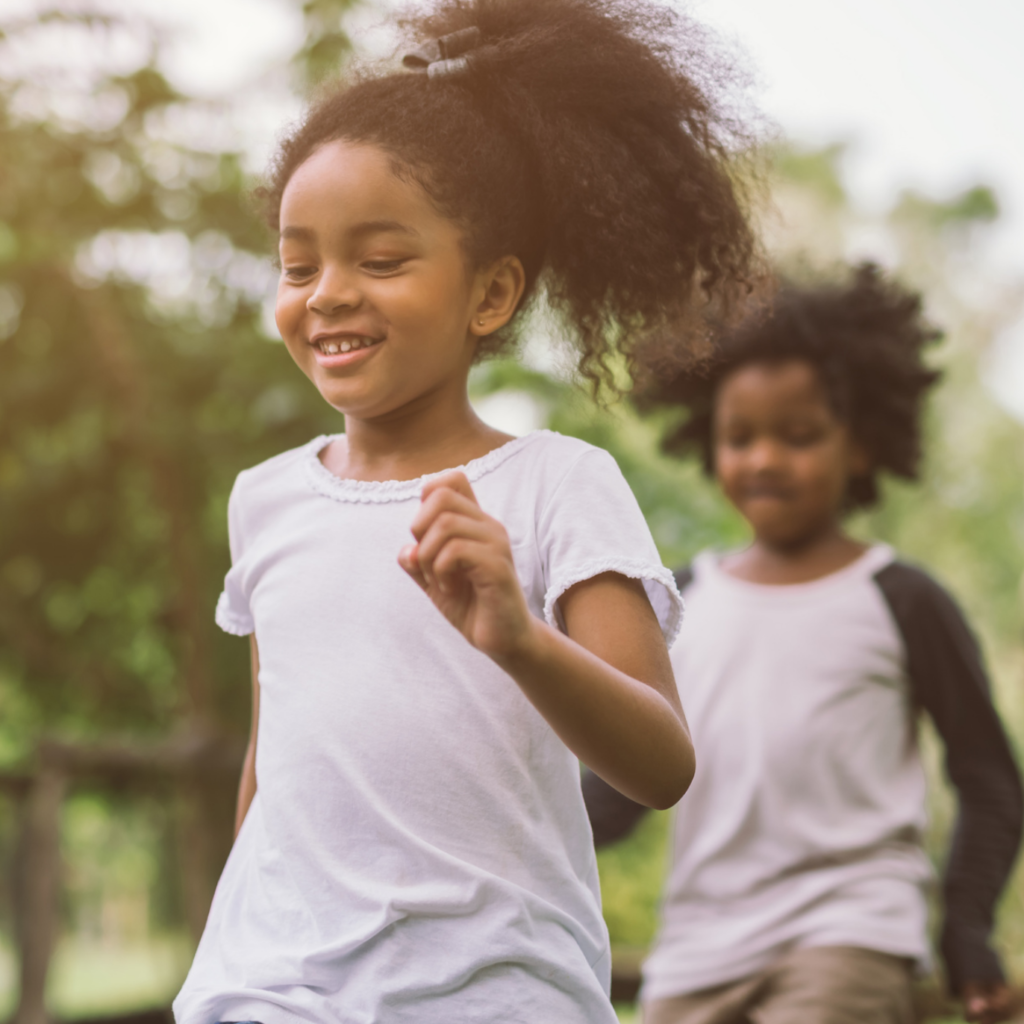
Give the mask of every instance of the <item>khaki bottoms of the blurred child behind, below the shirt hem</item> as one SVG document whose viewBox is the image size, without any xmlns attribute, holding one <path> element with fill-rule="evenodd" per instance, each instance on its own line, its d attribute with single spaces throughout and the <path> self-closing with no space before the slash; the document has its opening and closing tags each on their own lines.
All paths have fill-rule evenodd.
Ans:
<svg viewBox="0 0 1024 1024">
<path fill-rule="evenodd" d="M 854 946 L 795 949 L 741 981 L 643 1006 L 643 1024 L 912 1024 L 910 962 Z"/>
</svg>

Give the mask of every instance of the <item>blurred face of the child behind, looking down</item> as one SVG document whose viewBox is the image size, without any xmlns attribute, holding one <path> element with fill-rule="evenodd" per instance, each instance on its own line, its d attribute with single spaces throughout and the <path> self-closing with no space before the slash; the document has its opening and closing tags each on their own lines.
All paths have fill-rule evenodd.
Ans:
<svg viewBox="0 0 1024 1024">
<path fill-rule="evenodd" d="M 792 548 L 834 527 L 862 447 L 828 404 L 815 369 L 801 359 L 751 362 L 719 385 L 715 472 L 758 540 Z"/>
</svg>

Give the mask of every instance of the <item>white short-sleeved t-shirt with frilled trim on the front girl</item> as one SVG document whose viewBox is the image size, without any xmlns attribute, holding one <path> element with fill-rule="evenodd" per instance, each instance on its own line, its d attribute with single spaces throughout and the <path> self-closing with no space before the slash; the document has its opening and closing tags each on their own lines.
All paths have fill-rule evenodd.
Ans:
<svg viewBox="0 0 1024 1024">
<path fill-rule="evenodd" d="M 609 951 L 575 758 L 399 567 L 424 480 L 318 437 L 239 476 L 217 607 L 260 652 L 257 792 L 179 1024 L 600 1024 Z M 538 431 L 463 467 L 531 611 L 604 571 L 681 602 L 605 452 Z"/>
</svg>

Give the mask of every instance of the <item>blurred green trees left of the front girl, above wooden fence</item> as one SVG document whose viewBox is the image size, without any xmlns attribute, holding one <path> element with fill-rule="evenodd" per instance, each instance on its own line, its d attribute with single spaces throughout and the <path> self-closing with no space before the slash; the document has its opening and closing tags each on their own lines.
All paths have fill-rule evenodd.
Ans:
<svg viewBox="0 0 1024 1024">
<path fill-rule="evenodd" d="M 244 466 L 338 429 L 261 329 L 269 239 L 240 155 L 218 148 L 224 114 L 168 84 L 137 23 L 41 17 L 8 26 L 3 46 L 54 31 L 151 60 L 100 71 L 71 114 L 82 83 L 62 69 L 0 78 L 8 761 L 49 730 L 245 727 L 244 658 L 209 614 L 227 493 Z"/>
</svg>

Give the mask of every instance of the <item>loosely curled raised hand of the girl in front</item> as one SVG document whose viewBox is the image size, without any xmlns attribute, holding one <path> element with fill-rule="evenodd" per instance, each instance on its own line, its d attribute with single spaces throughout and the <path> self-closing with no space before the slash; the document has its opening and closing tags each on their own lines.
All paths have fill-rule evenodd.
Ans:
<svg viewBox="0 0 1024 1024">
<path fill-rule="evenodd" d="M 398 564 L 445 618 L 490 657 L 515 653 L 534 616 L 512 561 L 505 527 L 477 504 L 466 475 L 444 473 L 424 488 L 413 537 Z"/>
</svg>

